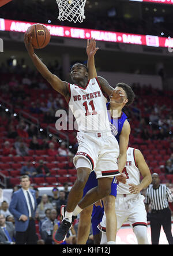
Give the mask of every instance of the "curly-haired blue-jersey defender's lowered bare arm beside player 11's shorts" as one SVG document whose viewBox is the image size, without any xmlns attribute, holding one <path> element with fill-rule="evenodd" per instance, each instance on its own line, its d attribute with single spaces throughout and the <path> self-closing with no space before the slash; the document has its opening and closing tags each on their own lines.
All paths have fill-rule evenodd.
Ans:
<svg viewBox="0 0 173 256">
<path fill-rule="evenodd" d="M 119 157 L 118 157 L 118 170 L 122 172 L 125 168 L 127 161 L 127 147 L 129 144 L 130 124 L 126 120 L 123 124 L 121 134 L 119 135 Z"/>
</svg>

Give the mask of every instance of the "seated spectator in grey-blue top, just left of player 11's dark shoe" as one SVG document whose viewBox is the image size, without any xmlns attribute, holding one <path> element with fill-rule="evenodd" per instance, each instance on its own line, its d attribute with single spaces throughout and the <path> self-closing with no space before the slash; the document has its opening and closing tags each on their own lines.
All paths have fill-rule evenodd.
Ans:
<svg viewBox="0 0 173 256">
<path fill-rule="evenodd" d="M 50 212 L 50 217 L 42 223 L 41 236 L 45 241 L 45 244 L 54 244 L 52 233 L 55 224 L 57 224 L 57 210 L 52 209 Z"/>
</svg>

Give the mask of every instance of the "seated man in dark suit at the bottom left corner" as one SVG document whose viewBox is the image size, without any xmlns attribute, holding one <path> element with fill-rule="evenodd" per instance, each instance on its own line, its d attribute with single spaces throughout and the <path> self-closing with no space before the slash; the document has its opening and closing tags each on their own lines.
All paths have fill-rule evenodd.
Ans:
<svg viewBox="0 0 173 256">
<path fill-rule="evenodd" d="M 0 214 L 0 243 L 1 244 L 15 244 L 15 231 L 12 222 L 5 221 L 5 216 Z"/>
</svg>

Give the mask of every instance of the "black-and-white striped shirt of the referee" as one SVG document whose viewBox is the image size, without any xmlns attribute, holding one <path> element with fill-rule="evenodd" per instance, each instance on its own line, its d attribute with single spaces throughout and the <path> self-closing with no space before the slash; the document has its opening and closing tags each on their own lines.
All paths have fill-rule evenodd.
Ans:
<svg viewBox="0 0 173 256">
<path fill-rule="evenodd" d="M 173 202 L 173 196 L 166 185 L 160 184 L 157 189 L 153 188 L 153 185 L 147 188 L 145 203 L 151 203 L 152 210 L 163 210 L 169 206 L 168 202 Z"/>
</svg>

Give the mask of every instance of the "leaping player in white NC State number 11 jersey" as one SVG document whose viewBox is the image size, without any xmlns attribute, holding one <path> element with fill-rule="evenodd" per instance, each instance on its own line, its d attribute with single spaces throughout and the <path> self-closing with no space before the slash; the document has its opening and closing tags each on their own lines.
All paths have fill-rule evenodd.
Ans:
<svg viewBox="0 0 173 256">
<path fill-rule="evenodd" d="M 119 146 L 111 134 L 106 108 L 107 99 L 103 92 L 112 96 L 117 102 L 122 102 L 125 95 L 122 94 L 122 91 L 114 90 L 102 77 L 88 81 L 86 66 L 78 63 L 73 65 L 70 73 L 74 84 L 62 81 L 53 75 L 34 53 L 32 34 L 25 33 L 24 42 L 33 64 L 44 79 L 65 97 L 78 124 L 79 146 L 74 157 L 77 180 L 68 196 L 65 218 L 58 228 L 58 232 L 54 234 L 55 242 L 62 243 L 72 225 L 74 209 L 74 213 L 80 213 L 85 207 L 109 195 L 114 176 L 117 176 L 119 181 L 126 183 L 125 175 L 119 173 L 116 164 Z M 98 185 L 85 195 L 81 205 L 78 202 L 82 198 L 84 186 L 93 169 L 97 175 Z"/>
</svg>

